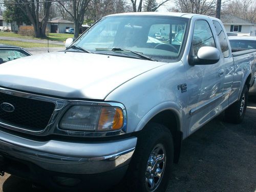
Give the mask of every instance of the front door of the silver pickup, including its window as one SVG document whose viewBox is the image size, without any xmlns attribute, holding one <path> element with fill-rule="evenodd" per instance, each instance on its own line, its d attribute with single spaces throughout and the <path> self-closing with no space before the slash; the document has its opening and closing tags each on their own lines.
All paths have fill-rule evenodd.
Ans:
<svg viewBox="0 0 256 192">
<path fill-rule="evenodd" d="M 213 27 L 211 20 L 195 20 L 190 53 L 193 52 L 192 54 L 197 56 L 201 47 L 217 47 L 211 30 Z M 188 135 L 190 135 L 203 123 L 220 113 L 224 74 L 220 71 L 221 61 L 211 65 L 187 65 L 187 68 Z"/>
</svg>

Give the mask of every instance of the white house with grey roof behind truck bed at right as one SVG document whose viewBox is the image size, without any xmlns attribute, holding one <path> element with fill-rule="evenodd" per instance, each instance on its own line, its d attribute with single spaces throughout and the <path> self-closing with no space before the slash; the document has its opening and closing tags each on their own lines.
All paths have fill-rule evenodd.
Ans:
<svg viewBox="0 0 256 192">
<path fill-rule="evenodd" d="M 255 26 L 249 20 L 230 14 L 222 14 L 220 19 L 227 32 L 237 33 L 238 36 L 256 35 Z"/>
</svg>

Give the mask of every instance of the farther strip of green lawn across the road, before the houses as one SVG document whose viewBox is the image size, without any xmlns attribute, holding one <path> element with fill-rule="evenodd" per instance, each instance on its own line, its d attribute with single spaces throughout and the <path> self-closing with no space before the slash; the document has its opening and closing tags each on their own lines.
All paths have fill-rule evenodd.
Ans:
<svg viewBox="0 0 256 192">
<path fill-rule="evenodd" d="M 46 33 L 47 35 L 47 33 Z M 31 38 L 31 39 L 40 39 L 35 37 L 22 36 L 14 32 L 0 32 L 0 36 L 3 37 L 17 37 L 17 38 Z M 68 33 L 49 33 L 49 40 L 65 41 L 67 38 L 73 38 L 73 34 Z M 47 39 L 47 38 L 46 38 Z"/>
</svg>

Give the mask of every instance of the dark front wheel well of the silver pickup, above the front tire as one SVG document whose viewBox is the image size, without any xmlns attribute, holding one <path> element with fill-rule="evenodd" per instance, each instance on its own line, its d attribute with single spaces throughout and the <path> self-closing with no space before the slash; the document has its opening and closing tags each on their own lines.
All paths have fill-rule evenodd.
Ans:
<svg viewBox="0 0 256 192">
<path fill-rule="evenodd" d="M 173 111 L 166 110 L 153 117 L 149 123 L 152 122 L 166 126 L 172 133 L 174 141 L 174 163 L 178 163 L 183 135 L 179 130 L 180 123 L 176 114 Z"/>
</svg>

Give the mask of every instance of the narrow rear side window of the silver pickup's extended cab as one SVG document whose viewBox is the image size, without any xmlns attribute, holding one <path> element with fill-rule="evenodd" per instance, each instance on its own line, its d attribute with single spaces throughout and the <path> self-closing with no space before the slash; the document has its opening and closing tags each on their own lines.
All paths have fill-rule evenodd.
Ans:
<svg viewBox="0 0 256 192">
<path fill-rule="evenodd" d="M 217 22 L 216 20 L 212 21 L 212 23 L 215 26 L 216 33 L 218 35 L 220 44 L 221 44 L 221 52 L 223 54 L 223 57 L 228 57 L 229 56 L 229 50 L 228 50 L 228 42 L 226 39 L 225 32 L 223 28 L 221 27 L 221 24 Z"/>
</svg>

